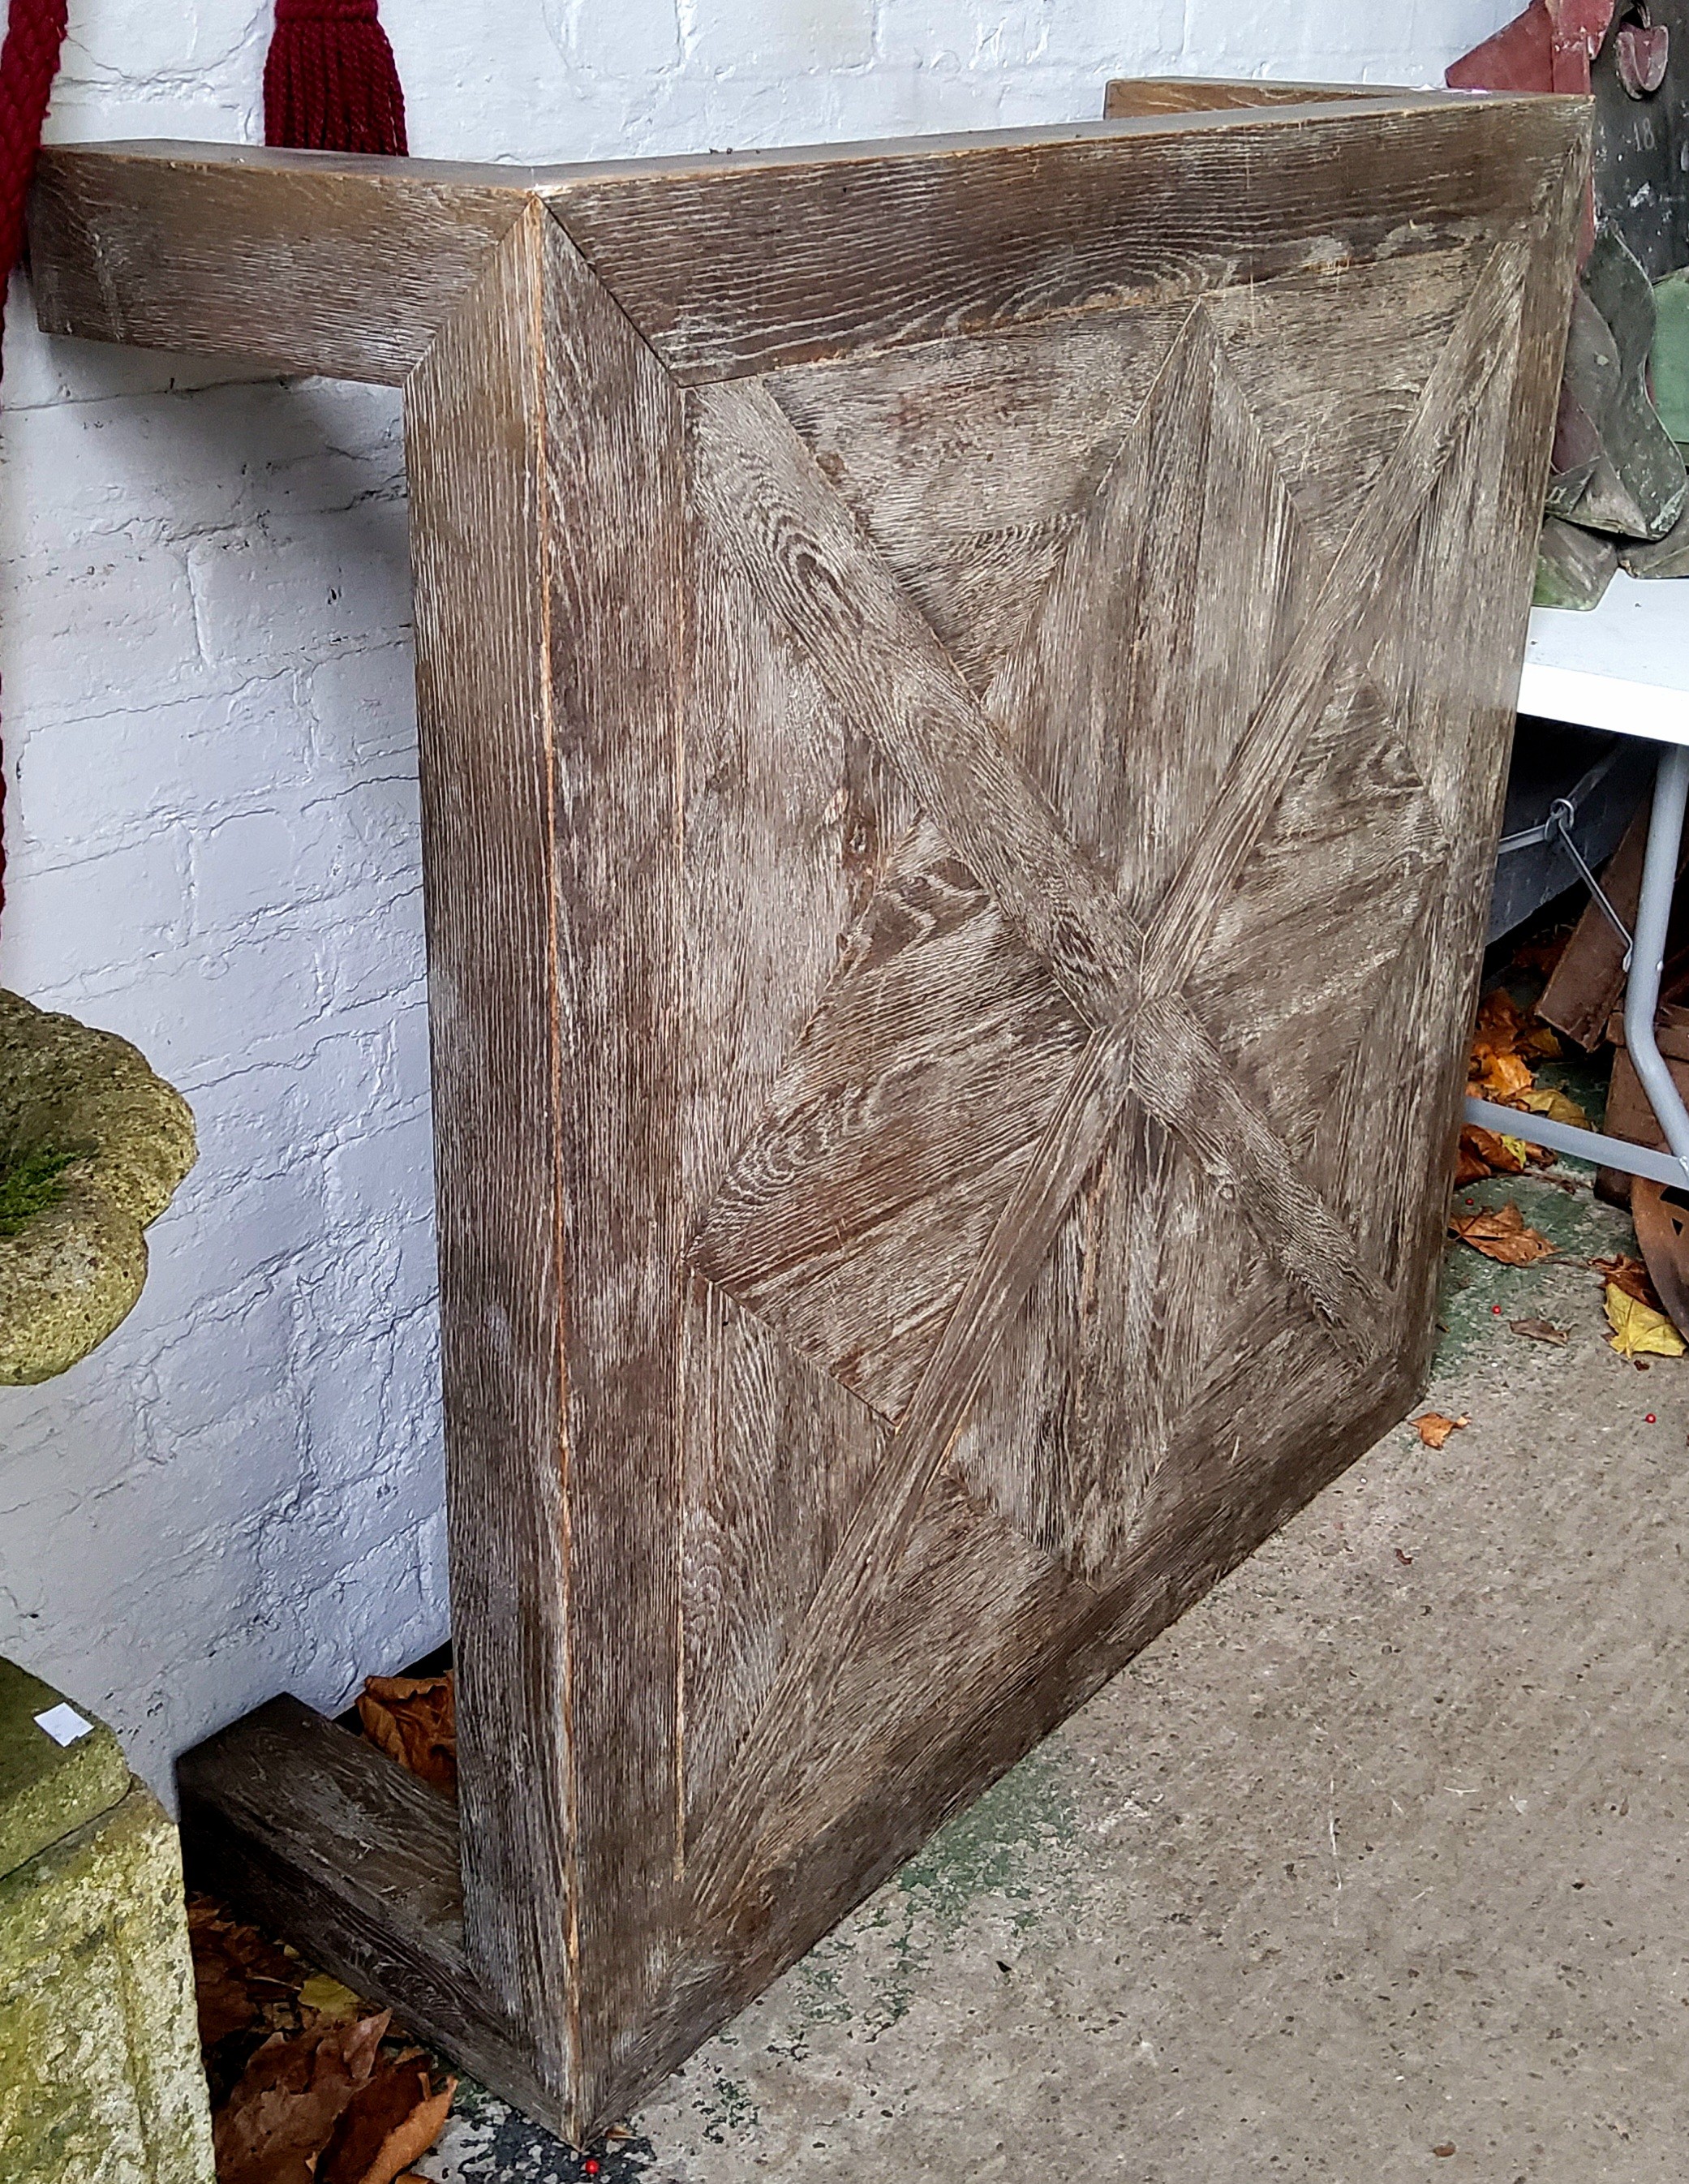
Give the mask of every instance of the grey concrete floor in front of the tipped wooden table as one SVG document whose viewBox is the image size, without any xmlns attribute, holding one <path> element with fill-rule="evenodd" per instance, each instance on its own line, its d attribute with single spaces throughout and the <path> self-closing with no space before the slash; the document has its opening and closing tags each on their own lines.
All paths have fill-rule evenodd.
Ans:
<svg viewBox="0 0 1689 2184">
<path fill-rule="evenodd" d="M 1464 1197 L 1562 1245 L 1451 1260 L 1427 1406 L 1471 1426 L 1383 1439 L 701 2049 L 603 2184 L 1689 2177 L 1689 1361 L 1606 1348 L 1584 1260 L 1630 1227 L 1586 1188 Z M 590 2171 L 470 2094 L 422 2173 Z"/>
</svg>

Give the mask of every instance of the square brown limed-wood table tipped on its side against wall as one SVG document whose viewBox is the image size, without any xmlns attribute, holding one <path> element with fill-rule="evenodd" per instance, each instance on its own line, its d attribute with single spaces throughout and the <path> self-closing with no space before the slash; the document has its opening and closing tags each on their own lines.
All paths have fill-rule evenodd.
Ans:
<svg viewBox="0 0 1689 2184">
<path fill-rule="evenodd" d="M 570 2134 L 1412 1400 L 1584 166 L 46 159 L 48 328 L 406 389 L 461 1813 L 184 1795 Z"/>
</svg>

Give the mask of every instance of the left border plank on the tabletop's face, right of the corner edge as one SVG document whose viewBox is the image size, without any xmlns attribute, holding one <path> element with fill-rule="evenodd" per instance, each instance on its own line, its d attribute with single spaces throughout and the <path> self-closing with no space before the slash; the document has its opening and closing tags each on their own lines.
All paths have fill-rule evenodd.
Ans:
<svg viewBox="0 0 1689 2184">
<path fill-rule="evenodd" d="M 564 234 L 540 227 L 586 2127 L 649 2084 L 640 2027 L 675 1977 L 686 459 L 680 389 Z M 529 1872 L 540 1854 L 542 1841 L 527 1845 Z"/>
</svg>

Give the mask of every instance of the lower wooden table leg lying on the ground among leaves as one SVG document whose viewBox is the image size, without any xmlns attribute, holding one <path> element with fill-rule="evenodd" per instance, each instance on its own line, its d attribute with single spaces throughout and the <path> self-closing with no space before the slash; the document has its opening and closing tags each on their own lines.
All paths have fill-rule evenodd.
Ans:
<svg viewBox="0 0 1689 2184">
<path fill-rule="evenodd" d="M 562 2123 L 463 1955 L 450 1797 L 297 1699 L 271 1699 L 188 1752 L 177 1780 L 190 1887 L 293 1942 L 531 2116 Z"/>
</svg>

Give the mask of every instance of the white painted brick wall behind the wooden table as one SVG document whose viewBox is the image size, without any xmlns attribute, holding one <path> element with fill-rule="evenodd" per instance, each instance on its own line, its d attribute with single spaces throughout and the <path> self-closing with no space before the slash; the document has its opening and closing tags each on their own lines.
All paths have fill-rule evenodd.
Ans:
<svg viewBox="0 0 1689 2184">
<path fill-rule="evenodd" d="M 1071 120 L 1108 74 L 1433 83 L 1514 0 L 385 0 L 417 153 Z M 269 0 L 70 0 L 50 135 L 253 140 Z M 48 343 L 13 286 L 0 983 L 203 1155 L 135 1315 L 0 1389 L 0 1651 L 175 1752 L 446 1631 L 398 400 Z"/>
</svg>

